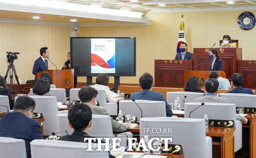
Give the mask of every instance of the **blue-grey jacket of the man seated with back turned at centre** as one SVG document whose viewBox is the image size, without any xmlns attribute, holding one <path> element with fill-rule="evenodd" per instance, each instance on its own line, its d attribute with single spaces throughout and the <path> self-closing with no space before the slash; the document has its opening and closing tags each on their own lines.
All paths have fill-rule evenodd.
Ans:
<svg viewBox="0 0 256 158">
<path fill-rule="evenodd" d="M 151 91 L 150 89 L 142 89 L 141 92 L 135 92 L 130 95 L 130 100 L 140 99 L 140 100 L 150 100 L 150 101 L 164 101 L 166 108 L 166 116 L 172 117 L 172 110 L 170 109 L 169 104 L 164 98 L 163 93 Z"/>
</svg>

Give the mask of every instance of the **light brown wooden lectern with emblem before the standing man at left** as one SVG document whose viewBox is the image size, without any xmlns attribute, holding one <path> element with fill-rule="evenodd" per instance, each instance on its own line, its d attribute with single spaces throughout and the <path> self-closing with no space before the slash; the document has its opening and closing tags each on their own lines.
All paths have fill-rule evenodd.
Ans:
<svg viewBox="0 0 256 158">
<path fill-rule="evenodd" d="M 74 88 L 74 69 L 64 70 L 44 70 L 37 74 L 37 79 L 44 72 L 48 72 L 52 76 L 52 84 L 57 88 Z"/>
</svg>

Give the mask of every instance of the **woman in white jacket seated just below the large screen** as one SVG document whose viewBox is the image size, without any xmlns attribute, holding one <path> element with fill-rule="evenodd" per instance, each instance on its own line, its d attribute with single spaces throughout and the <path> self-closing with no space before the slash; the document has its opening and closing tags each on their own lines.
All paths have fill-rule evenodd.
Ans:
<svg viewBox="0 0 256 158">
<path fill-rule="evenodd" d="M 91 87 L 95 88 L 97 91 L 104 90 L 105 93 L 106 93 L 107 102 L 109 102 L 109 103 L 117 103 L 118 101 L 121 100 L 121 98 L 118 97 L 119 96 L 118 94 L 110 91 L 110 88 L 107 86 L 108 82 L 109 82 L 108 74 L 100 73 L 96 77 L 96 84 L 95 85 L 91 85 Z"/>
</svg>

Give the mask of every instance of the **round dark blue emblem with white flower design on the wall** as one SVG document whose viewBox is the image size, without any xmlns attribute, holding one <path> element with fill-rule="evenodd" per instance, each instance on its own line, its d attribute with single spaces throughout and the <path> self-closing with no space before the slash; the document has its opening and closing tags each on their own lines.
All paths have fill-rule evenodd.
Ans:
<svg viewBox="0 0 256 158">
<path fill-rule="evenodd" d="M 238 16 L 237 23 L 242 30 L 249 31 L 255 26 L 255 16 L 251 12 L 243 12 Z"/>
</svg>

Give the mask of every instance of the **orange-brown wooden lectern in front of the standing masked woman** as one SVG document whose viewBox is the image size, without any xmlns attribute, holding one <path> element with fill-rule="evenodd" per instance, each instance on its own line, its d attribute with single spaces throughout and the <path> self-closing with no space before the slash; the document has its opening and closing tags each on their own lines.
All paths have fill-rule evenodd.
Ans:
<svg viewBox="0 0 256 158">
<path fill-rule="evenodd" d="M 188 70 L 185 70 L 184 71 L 184 83 L 185 84 L 187 83 L 188 78 L 190 76 L 195 76 L 196 78 L 201 77 L 202 79 L 204 79 L 204 81 L 206 81 L 206 79 L 208 79 L 211 72 L 212 71 L 188 71 Z M 219 76 L 226 78 L 226 73 L 224 71 L 215 71 L 215 72 L 218 73 Z M 200 85 L 201 85 L 201 83 L 200 83 Z M 201 86 L 203 86 L 203 85 L 201 85 Z"/>
</svg>

